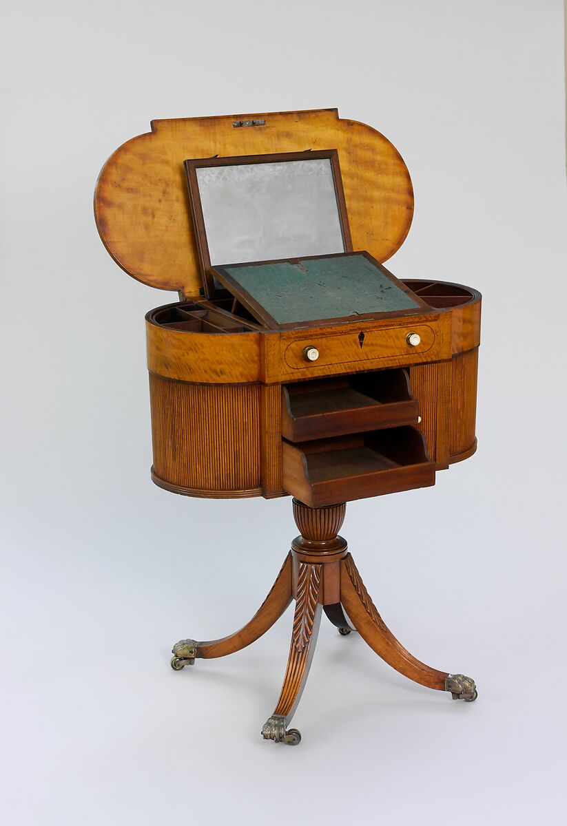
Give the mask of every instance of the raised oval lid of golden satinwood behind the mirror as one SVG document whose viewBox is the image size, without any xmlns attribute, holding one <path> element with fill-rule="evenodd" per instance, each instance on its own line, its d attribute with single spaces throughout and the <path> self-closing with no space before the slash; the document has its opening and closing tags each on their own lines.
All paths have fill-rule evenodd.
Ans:
<svg viewBox="0 0 567 826">
<path fill-rule="evenodd" d="M 265 126 L 233 126 L 243 120 Z M 412 181 L 398 150 L 336 109 L 152 121 L 151 129 L 111 155 L 94 193 L 102 243 L 150 287 L 187 297 L 202 287 L 183 169 L 190 158 L 336 149 L 353 249 L 386 261 L 412 223 Z"/>
</svg>

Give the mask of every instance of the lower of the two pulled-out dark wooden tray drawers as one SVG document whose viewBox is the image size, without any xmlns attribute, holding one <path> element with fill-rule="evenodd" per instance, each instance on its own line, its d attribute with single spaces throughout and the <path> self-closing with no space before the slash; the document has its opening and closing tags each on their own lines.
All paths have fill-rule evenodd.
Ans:
<svg viewBox="0 0 567 826">
<path fill-rule="evenodd" d="M 284 491 L 310 507 L 435 484 L 435 463 L 412 427 L 291 444 L 284 439 Z"/>
</svg>

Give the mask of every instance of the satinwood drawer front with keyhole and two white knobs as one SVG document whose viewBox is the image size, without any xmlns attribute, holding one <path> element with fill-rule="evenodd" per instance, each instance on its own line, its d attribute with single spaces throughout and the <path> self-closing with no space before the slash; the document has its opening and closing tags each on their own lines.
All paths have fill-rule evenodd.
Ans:
<svg viewBox="0 0 567 826">
<path fill-rule="evenodd" d="M 393 361 L 398 364 L 411 364 L 419 361 L 436 361 L 442 358 L 440 350 L 444 349 L 437 341 L 437 323 L 414 323 L 408 321 L 403 325 L 381 327 L 374 330 L 360 330 L 352 325 L 352 331 L 328 333 L 324 336 L 306 335 L 296 339 L 284 349 L 285 366 L 292 370 L 309 370 L 317 373 L 320 368 Z M 419 343 L 412 345 L 409 337 L 419 336 Z M 364 335 L 364 339 L 362 336 Z M 415 339 L 413 339 L 415 340 Z M 307 348 L 318 350 L 314 361 L 306 358 Z M 356 367 L 355 367 L 356 368 Z"/>
</svg>

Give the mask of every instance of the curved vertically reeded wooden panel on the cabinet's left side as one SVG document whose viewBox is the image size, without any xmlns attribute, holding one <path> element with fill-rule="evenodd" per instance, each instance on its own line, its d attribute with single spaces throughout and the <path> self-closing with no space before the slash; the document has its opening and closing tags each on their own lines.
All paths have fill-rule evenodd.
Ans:
<svg viewBox="0 0 567 826">
<path fill-rule="evenodd" d="M 188 496 L 260 496 L 260 385 L 150 373 L 153 479 Z"/>
</svg>

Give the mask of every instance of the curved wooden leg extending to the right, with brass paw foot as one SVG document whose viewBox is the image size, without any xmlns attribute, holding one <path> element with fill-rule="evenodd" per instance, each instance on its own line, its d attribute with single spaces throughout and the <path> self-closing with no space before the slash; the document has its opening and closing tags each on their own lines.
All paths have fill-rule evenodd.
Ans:
<svg viewBox="0 0 567 826">
<path fill-rule="evenodd" d="M 437 671 L 403 648 L 384 624 L 350 554 L 341 562 L 341 602 L 360 636 L 400 674 L 422 686 L 450 691 L 455 700 L 476 700 L 476 686 L 470 677 Z"/>
</svg>

